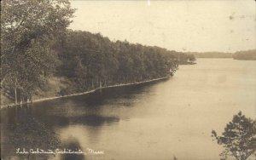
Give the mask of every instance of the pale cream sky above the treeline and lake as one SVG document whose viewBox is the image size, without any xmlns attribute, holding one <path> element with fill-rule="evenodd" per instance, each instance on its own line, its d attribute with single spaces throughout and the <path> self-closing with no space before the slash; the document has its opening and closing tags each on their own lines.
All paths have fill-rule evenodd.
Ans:
<svg viewBox="0 0 256 160">
<path fill-rule="evenodd" d="M 256 49 L 254 0 L 71 1 L 70 28 L 177 51 Z"/>
</svg>

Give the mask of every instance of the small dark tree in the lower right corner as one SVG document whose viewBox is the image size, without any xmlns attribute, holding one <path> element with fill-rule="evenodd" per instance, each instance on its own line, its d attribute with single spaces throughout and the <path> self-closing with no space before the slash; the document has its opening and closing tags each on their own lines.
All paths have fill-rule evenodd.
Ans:
<svg viewBox="0 0 256 160">
<path fill-rule="evenodd" d="M 256 121 L 245 117 L 240 111 L 226 125 L 221 136 L 212 130 L 212 137 L 217 140 L 218 145 L 224 146 L 224 151 L 220 154 L 224 159 L 233 156 L 237 160 L 246 160 L 256 151 Z"/>
</svg>

